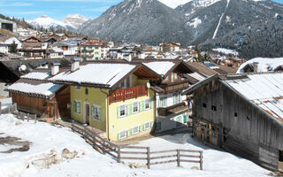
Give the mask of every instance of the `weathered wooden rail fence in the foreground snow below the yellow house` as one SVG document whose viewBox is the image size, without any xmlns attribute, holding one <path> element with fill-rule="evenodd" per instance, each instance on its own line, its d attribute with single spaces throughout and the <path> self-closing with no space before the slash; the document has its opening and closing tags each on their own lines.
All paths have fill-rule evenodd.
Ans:
<svg viewBox="0 0 283 177">
<path fill-rule="evenodd" d="M 203 151 L 202 150 L 159 150 L 153 151 L 149 147 L 142 146 L 119 146 L 104 138 L 96 135 L 86 127 L 81 127 L 76 123 L 72 124 L 74 132 L 83 135 L 85 140 L 96 150 L 103 154 L 107 153 L 112 158 L 121 162 L 121 160 L 145 161 L 145 165 L 158 165 L 176 162 L 180 166 L 181 162 L 197 163 L 200 170 L 203 170 Z"/>
</svg>

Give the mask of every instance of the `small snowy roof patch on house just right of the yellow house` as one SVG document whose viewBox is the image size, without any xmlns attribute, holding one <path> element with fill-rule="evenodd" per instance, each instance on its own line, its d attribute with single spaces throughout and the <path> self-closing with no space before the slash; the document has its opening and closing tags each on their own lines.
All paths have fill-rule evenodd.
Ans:
<svg viewBox="0 0 283 177">
<path fill-rule="evenodd" d="M 155 61 L 145 63 L 144 65 L 148 66 L 151 70 L 155 71 L 160 75 L 165 75 L 172 69 L 172 66 L 174 66 L 175 63 L 170 61 Z"/>
</svg>

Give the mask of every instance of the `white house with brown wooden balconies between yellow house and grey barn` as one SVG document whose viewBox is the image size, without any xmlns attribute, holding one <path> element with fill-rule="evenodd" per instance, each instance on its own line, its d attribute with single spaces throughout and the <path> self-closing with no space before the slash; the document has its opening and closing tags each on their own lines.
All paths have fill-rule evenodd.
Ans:
<svg viewBox="0 0 283 177">
<path fill-rule="evenodd" d="M 185 62 L 175 60 L 142 60 L 144 65 L 157 72 L 161 81 L 153 82 L 152 90 L 156 92 L 156 133 L 186 127 L 190 109 L 187 109 L 187 98 L 181 96 L 196 81 L 187 73 L 194 73 Z"/>
</svg>

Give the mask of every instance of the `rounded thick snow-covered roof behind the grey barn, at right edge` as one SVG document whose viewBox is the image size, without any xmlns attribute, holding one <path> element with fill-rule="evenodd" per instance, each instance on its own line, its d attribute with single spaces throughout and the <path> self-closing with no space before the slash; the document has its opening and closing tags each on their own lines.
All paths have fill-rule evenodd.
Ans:
<svg viewBox="0 0 283 177">
<path fill-rule="evenodd" d="M 257 73 L 266 73 L 274 71 L 279 65 L 283 65 L 283 58 L 253 58 L 243 63 L 237 73 L 244 73 L 243 68 L 254 63 L 257 65 Z"/>
</svg>

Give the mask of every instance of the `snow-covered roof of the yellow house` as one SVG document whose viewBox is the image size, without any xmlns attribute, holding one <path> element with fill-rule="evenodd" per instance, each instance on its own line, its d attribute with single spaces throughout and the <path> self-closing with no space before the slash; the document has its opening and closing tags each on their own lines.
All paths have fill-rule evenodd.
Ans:
<svg viewBox="0 0 283 177">
<path fill-rule="evenodd" d="M 136 65 L 130 64 L 88 64 L 80 65 L 80 69 L 73 73 L 57 75 L 50 81 L 67 81 L 95 85 L 114 86 L 126 74 L 130 73 Z"/>
</svg>

